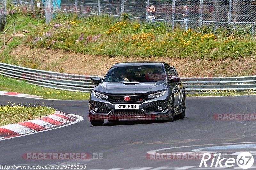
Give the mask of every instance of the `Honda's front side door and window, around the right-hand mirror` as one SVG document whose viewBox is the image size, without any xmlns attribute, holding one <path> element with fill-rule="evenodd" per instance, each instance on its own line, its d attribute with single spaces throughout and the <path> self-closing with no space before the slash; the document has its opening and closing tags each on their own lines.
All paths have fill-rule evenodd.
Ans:
<svg viewBox="0 0 256 170">
<path fill-rule="evenodd" d="M 171 76 L 174 76 L 174 72 L 172 72 L 172 70 L 170 69 L 170 66 L 168 66 L 167 64 L 164 66 L 165 70 L 166 70 L 166 74 L 167 74 L 167 79 L 170 79 Z M 179 89 L 178 89 L 178 82 L 169 82 L 169 85 L 172 87 L 173 92 L 174 92 L 174 109 L 177 109 L 180 97 L 179 97 Z"/>
</svg>

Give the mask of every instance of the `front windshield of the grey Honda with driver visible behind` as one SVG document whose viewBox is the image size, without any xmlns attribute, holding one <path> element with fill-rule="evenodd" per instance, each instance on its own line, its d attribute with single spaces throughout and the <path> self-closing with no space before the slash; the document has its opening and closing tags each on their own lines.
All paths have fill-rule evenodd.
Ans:
<svg viewBox="0 0 256 170">
<path fill-rule="evenodd" d="M 106 77 L 105 82 L 119 81 L 163 81 L 165 80 L 164 69 L 162 66 L 126 66 L 112 67 Z"/>
</svg>

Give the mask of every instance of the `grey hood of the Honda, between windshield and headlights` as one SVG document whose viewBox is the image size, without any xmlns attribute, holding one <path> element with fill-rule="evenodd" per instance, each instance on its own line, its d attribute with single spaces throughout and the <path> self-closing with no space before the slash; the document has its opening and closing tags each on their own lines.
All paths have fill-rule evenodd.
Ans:
<svg viewBox="0 0 256 170">
<path fill-rule="evenodd" d="M 158 82 L 139 82 L 137 84 L 128 84 L 128 82 L 101 82 L 94 87 L 94 90 L 110 94 L 123 93 L 148 93 L 167 89 L 166 81 Z"/>
</svg>

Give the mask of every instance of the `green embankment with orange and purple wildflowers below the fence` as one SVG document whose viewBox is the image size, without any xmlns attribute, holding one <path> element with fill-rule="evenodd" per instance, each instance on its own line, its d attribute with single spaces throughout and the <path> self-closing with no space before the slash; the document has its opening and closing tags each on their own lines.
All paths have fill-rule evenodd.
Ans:
<svg viewBox="0 0 256 170">
<path fill-rule="evenodd" d="M 7 16 L 9 24 L 17 20 L 17 30 L 30 30 L 26 44 L 31 48 L 61 49 L 106 57 L 212 60 L 246 57 L 254 54 L 256 49 L 256 41 L 246 34 L 246 28 L 244 32 L 234 31 L 233 34 L 222 27 L 211 33 L 206 26 L 199 31 L 188 29 L 184 32 L 179 27 L 172 31 L 165 22 L 152 24 L 107 15 L 78 18 L 76 14 L 61 12 L 46 25 L 40 16 L 40 13 L 21 12 L 19 8 Z M 1 57 L 4 62 L 10 60 Z M 26 59 L 22 62 L 33 65 L 27 64 Z"/>
</svg>

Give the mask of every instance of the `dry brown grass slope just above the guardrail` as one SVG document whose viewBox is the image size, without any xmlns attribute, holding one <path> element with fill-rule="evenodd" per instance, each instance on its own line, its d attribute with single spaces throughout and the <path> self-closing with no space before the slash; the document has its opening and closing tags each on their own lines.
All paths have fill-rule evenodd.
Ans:
<svg viewBox="0 0 256 170">
<path fill-rule="evenodd" d="M 226 58 L 212 60 L 210 58 L 185 59 L 164 57 L 113 57 L 92 56 L 76 52 L 63 52 L 61 50 L 34 48 L 25 45 L 12 50 L 10 56 L 14 60 L 33 61 L 38 69 L 63 71 L 65 73 L 80 73 L 88 75 L 104 75 L 107 70 L 118 62 L 130 61 L 163 61 L 174 65 L 181 77 L 207 77 L 207 76 L 248 76 L 256 75 L 255 56 Z M 19 63 L 19 62 L 18 62 Z M 22 63 L 20 63 L 22 66 Z"/>
</svg>

